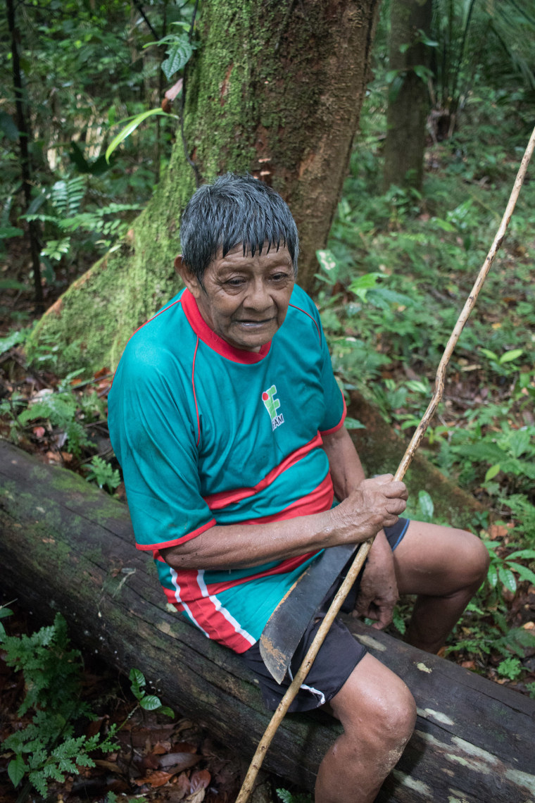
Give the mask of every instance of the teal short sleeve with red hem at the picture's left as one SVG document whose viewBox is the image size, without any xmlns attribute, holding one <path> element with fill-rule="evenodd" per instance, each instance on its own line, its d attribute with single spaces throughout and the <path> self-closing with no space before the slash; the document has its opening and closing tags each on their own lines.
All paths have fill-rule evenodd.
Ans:
<svg viewBox="0 0 535 803">
<path fill-rule="evenodd" d="M 200 490 L 193 391 L 172 356 L 144 344 L 127 349 L 108 417 L 138 548 L 174 546 L 213 526 Z"/>
</svg>

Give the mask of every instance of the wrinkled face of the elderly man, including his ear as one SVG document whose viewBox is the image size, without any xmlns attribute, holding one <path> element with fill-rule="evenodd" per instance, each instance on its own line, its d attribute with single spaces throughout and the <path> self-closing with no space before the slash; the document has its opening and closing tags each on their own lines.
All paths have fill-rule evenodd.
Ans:
<svg viewBox="0 0 535 803">
<path fill-rule="evenodd" d="M 225 256 L 218 252 L 203 276 L 183 272 L 209 327 L 236 349 L 257 352 L 268 343 L 286 318 L 294 289 L 294 267 L 286 247 L 265 248 L 252 257 L 243 246 Z"/>
</svg>

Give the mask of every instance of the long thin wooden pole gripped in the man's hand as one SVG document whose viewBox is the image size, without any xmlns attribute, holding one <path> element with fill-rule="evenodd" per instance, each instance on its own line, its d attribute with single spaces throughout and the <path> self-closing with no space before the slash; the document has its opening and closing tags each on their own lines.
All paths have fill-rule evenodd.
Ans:
<svg viewBox="0 0 535 803">
<path fill-rule="evenodd" d="M 525 173 L 528 169 L 529 160 L 532 156 L 533 149 L 535 148 L 535 128 L 533 129 L 532 135 L 529 138 L 529 143 L 527 148 L 525 149 L 524 156 L 522 157 L 520 168 L 518 169 L 517 178 L 513 185 L 513 191 L 509 197 L 509 203 L 505 209 L 505 213 L 503 218 L 501 218 L 500 226 L 496 232 L 496 237 L 488 251 L 487 257 L 484 260 L 483 267 L 477 276 L 476 282 L 472 287 L 472 291 L 464 304 L 464 308 L 460 313 L 459 318 L 453 328 L 453 332 L 450 335 L 448 343 L 446 344 L 446 348 L 444 349 L 444 354 L 442 355 L 442 359 L 440 360 L 439 367 L 436 371 L 436 379 L 435 379 L 435 391 L 432 395 L 431 402 L 429 402 L 428 409 L 425 411 L 422 420 L 419 422 L 419 425 L 416 427 L 415 434 L 411 438 L 411 442 L 407 446 L 407 450 L 403 455 L 403 459 L 401 463 L 399 463 L 399 468 L 395 472 L 394 479 L 403 479 L 405 476 L 405 472 L 407 468 L 410 466 L 412 458 L 415 455 L 415 451 L 418 448 L 422 438 L 424 438 L 425 431 L 428 428 L 429 422 L 432 420 L 436 408 L 439 405 L 440 399 L 442 398 L 442 394 L 444 393 L 444 377 L 446 374 L 446 368 L 448 367 L 448 362 L 450 357 L 452 356 L 453 349 L 456 347 L 457 340 L 459 340 L 460 333 L 463 331 L 464 324 L 468 320 L 468 316 L 472 312 L 477 300 L 477 296 L 479 296 L 480 289 L 483 287 L 484 280 L 487 278 L 488 271 L 492 263 L 494 262 L 494 257 L 496 256 L 499 248 L 501 247 L 501 243 L 504 240 L 505 232 L 507 227 L 509 226 L 509 221 L 513 216 L 513 210 L 517 205 L 518 195 L 521 191 L 521 186 L 524 182 Z M 375 536 L 374 536 L 375 538 Z M 295 695 L 297 695 L 299 688 L 301 687 L 302 683 L 304 683 L 306 679 L 306 675 L 308 675 L 310 671 L 310 667 L 314 663 L 314 658 L 318 654 L 319 648 L 322 646 L 323 640 L 326 637 L 326 634 L 329 632 L 330 626 L 334 622 L 334 619 L 338 615 L 338 611 L 343 605 L 344 600 L 347 597 L 347 594 L 350 592 L 352 585 L 355 583 L 355 580 L 363 568 L 364 561 L 367 558 L 368 552 L 370 552 L 371 544 L 374 542 L 374 538 L 369 538 L 367 541 L 364 541 L 359 548 L 359 552 L 355 556 L 355 560 L 351 565 L 351 569 L 347 573 L 345 580 L 342 582 L 342 585 L 338 589 L 338 593 L 334 597 L 334 600 L 330 604 L 330 608 L 327 611 L 325 618 L 321 626 L 318 628 L 318 633 L 314 637 L 314 641 L 310 645 L 306 656 L 299 667 L 297 674 L 294 677 L 290 687 L 286 691 L 286 694 L 282 698 L 281 702 L 278 704 L 277 711 L 275 711 L 270 724 L 265 730 L 264 736 L 262 736 L 257 751 L 253 756 L 253 760 L 249 764 L 249 769 L 245 776 L 245 781 L 241 786 L 240 793 L 236 798 L 236 803 L 247 803 L 249 800 L 249 795 L 253 791 L 254 781 L 256 780 L 257 774 L 261 768 L 262 761 L 264 760 L 265 752 L 270 747 L 270 744 L 273 740 L 275 733 L 277 732 L 278 726 L 281 724 L 282 719 L 286 715 L 286 711 L 288 711 L 291 703 L 294 700 Z"/>
</svg>

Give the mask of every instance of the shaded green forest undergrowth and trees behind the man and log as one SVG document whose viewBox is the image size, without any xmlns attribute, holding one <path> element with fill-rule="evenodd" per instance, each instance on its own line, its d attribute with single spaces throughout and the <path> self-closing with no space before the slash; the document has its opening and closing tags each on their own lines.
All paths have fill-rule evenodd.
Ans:
<svg viewBox="0 0 535 803">
<path fill-rule="evenodd" d="M 163 104 L 180 117 L 180 81 L 197 46 L 191 23 L 202 4 L 47 0 L 6 8 L 0 434 L 124 496 L 105 422 L 114 366 L 66 373 L 66 349 L 31 332 L 95 260 L 128 241 L 168 169 L 180 124 L 139 116 Z M 534 42 L 533 2 L 391 0 L 380 10 L 350 169 L 329 240 L 317 245 L 311 289 L 342 388 L 358 387 L 404 440 L 428 404 L 533 128 Z M 136 116 L 129 136 L 120 135 Z M 491 555 L 488 581 L 445 654 L 532 696 L 534 169 L 424 443 L 432 463 L 482 504 L 467 526 Z M 70 365 L 79 348 L 67 346 Z M 425 489 L 410 505 L 411 516 L 435 520 Z M 405 613 L 399 605 L 399 634 Z"/>
</svg>

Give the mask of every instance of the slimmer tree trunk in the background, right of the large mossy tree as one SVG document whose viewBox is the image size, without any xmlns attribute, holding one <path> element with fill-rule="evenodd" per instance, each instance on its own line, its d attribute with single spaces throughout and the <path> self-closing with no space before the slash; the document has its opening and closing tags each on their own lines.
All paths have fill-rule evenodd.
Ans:
<svg viewBox="0 0 535 803">
<path fill-rule="evenodd" d="M 392 184 L 422 189 L 429 100 L 424 76 L 417 71 L 428 67 L 429 48 L 420 32 L 429 35 L 431 15 L 432 0 L 391 0 L 389 62 L 397 75 L 388 97 L 385 190 Z"/>
</svg>

